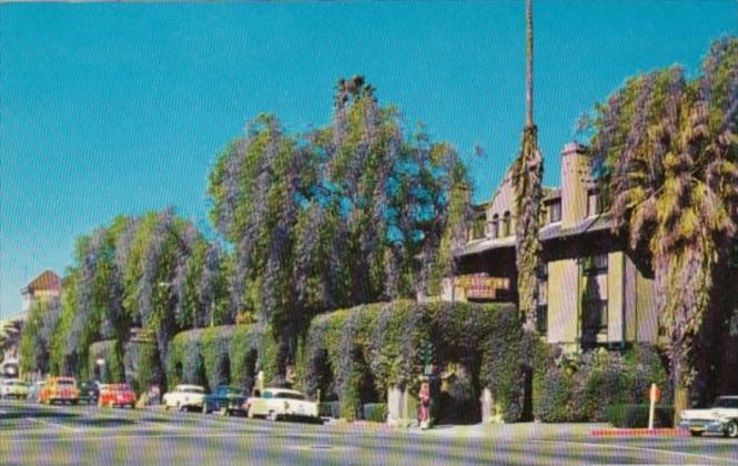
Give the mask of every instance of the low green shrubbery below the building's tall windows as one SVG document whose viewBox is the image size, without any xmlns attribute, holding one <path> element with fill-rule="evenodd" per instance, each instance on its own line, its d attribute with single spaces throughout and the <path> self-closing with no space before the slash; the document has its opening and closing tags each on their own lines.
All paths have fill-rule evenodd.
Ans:
<svg viewBox="0 0 738 466">
<path fill-rule="evenodd" d="M 534 354 L 533 414 L 547 423 L 603 422 L 606 406 L 644 402 L 651 383 L 668 386 L 658 353 L 646 345 L 566 355 L 538 342 Z"/>
</svg>

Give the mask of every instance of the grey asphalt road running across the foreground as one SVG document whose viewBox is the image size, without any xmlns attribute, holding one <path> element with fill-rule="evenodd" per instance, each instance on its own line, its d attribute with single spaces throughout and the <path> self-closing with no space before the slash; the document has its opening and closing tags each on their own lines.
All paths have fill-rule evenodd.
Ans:
<svg viewBox="0 0 738 466">
<path fill-rule="evenodd" d="M 720 437 L 595 438 L 587 427 L 502 425 L 393 430 L 383 425 L 41 406 L 0 401 L 2 465 L 738 464 Z"/>
</svg>

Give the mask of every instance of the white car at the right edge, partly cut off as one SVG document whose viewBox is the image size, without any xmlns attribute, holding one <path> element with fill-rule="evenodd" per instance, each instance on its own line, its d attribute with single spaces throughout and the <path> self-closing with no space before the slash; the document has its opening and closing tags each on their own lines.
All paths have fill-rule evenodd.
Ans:
<svg viewBox="0 0 738 466">
<path fill-rule="evenodd" d="M 738 395 L 720 396 L 711 408 L 684 409 L 679 417 L 679 427 L 695 437 L 709 432 L 738 438 Z"/>
</svg>

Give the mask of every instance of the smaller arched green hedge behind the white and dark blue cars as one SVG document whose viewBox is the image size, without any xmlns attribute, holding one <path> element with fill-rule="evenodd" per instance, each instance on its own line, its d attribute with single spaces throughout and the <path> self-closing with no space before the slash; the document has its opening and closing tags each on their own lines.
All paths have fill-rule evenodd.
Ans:
<svg viewBox="0 0 738 466">
<path fill-rule="evenodd" d="M 274 377 L 269 358 L 273 341 L 256 325 L 222 325 L 181 332 L 171 340 L 166 362 L 169 387 L 191 383 L 215 389 L 232 384 L 251 391 L 256 365 Z"/>
</svg>

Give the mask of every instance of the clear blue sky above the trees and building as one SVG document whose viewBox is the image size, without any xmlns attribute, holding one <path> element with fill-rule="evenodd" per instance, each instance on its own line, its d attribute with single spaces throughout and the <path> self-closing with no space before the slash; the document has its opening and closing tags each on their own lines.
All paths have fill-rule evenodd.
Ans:
<svg viewBox="0 0 738 466">
<path fill-rule="evenodd" d="M 538 1 L 536 122 L 545 181 L 577 116 L 628 77 L 738 32 L 725 1 Z M 524 2 L 0 6 L 0 316 L 74 237 L 165 205 L 206 227 L 219 150 L 260 112 L 290 131 L 331 120 L 364 74 L 408 129 L 466 155 L 476 199 L 515 156 Z M 485 150 L 472 155 L 474 145 Z"/>
</svg>

